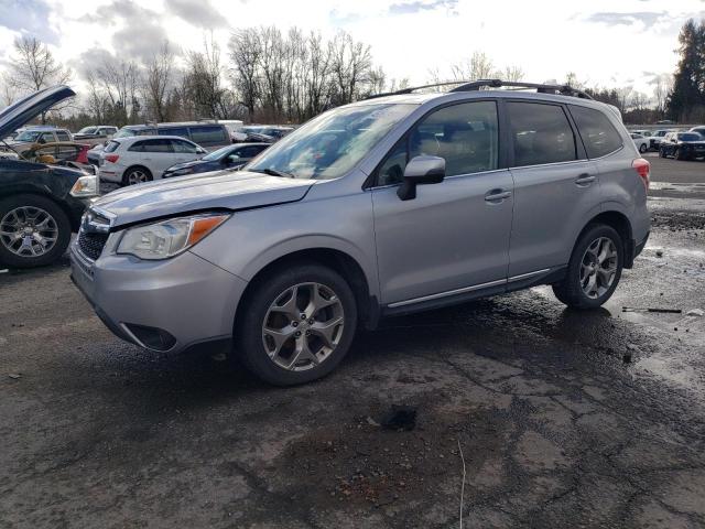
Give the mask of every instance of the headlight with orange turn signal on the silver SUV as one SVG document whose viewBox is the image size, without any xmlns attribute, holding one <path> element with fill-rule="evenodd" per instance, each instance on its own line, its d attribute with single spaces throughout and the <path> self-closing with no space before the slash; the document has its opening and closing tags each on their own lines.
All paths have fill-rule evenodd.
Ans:
<svg viewBox="0 0 705 529">
<path fill-rule="evenodd" d="M 225 223 L 230 215 L 204 214 L 170 218 L 156 224 L 137 226 L 126 230 L 117 253 L 140 259 L 169 259 L 191 248 Z"/>
</svg>

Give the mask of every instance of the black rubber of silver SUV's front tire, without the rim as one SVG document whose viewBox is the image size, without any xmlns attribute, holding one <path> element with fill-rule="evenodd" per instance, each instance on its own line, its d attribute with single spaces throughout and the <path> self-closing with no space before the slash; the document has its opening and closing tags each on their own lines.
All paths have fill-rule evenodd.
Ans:
<svg viewBox="0 0 705 529">
<path fill-rule="evenodd" d="M 288 288 L 305 282 L 317 282 L 330 288 L 343 303 L 345 326 L 338 346 L 318 367 L 305 371 L 289 371 L 275 365 L 262 345 L 262 322 L 270 305 Z M 325 377 L 343 360 L 357 327 L 355 294 L 338 273 L 319 264 L 301 264 L 280 269 L 258 281 L 238 309 L 242 317 L 235 328 L 235 353 L 254 375 L 275 386 L 293 386 Z"/>
</svg>

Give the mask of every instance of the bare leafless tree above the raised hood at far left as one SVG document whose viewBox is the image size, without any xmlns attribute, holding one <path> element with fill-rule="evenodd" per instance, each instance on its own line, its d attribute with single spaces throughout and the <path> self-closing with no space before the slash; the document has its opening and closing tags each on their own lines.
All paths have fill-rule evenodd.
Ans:
<svg viewBox="0 0 705 529">
<path fill-rule="evenodd" d="M 29 94 L 53 85 L 64 85 L 72 77 L 70 69 L 58 63 L 48 46 L 34 36 L 15 39 L 13 52 L 8 79 L 17 91 Z M 55 107 L 54 111 L 59 112 L 69 105 L 65 102 Z M 45 122 L 46 112 L 43 112 L 42 123 Z"/>
</svg>

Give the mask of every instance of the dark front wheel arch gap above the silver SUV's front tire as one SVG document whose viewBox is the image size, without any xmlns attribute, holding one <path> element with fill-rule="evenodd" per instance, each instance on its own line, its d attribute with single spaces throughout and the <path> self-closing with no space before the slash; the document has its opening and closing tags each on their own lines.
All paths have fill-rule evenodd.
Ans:
<svg viewBox="0 0 705 529">
<path fill-rule="evenodd" d="M 360 323 L 370 330 L 377 326 L 379 302 L 370 289 L 369 280 L 360 263 L 343 250 L 329 247 L 314 247 L 282 255 L 262 267 L 252 277 L 238 302 L 235 313 L 235 327 L 237 327 L 238 321 L 242 316 L 242 309 L 247 305 L 248 298 L 268 277 L 279 270 L 307 262 L 327 267 L 339 273 L 352 289 Z"/>
</svg>

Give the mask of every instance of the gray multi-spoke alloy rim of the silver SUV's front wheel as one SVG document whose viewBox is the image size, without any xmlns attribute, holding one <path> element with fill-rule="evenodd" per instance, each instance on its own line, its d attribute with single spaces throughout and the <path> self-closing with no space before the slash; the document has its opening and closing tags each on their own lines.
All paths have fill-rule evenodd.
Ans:
<svg viewBox="0 0 705 529">
<path fill-rule="evenodd" d="M 333 289 L 299 283 L 279 294 L 267 311 L 262 345 L 279 367 L 305 371 L 330 357 L 344 326 L 343 303 Z"/>
</svg>

